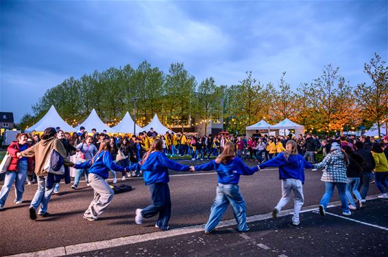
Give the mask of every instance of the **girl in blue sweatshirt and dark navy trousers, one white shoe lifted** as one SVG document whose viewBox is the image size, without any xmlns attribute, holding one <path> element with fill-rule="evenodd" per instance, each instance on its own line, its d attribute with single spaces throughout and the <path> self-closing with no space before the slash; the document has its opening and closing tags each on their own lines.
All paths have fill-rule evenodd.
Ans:
<svg viewBox="0 0 388 257">
<path fill-rule="evenodd" d="M 183 172 L 189 171 L 190 167 L 168 159 L 163 153 L 161 139 L 155 139 L 143 160 L 135 165 L 137 165 L 137 170 L 143 170 L 144 182 L 145 185 L 149 186 L 152 201 L 149 206 L 136 209 L 136 224 L 142 224 L 143 217 L 149 218 L 159 213 L 156 228 L 168 230 L 171 217 L 168 169 Z"/>
</svg>

